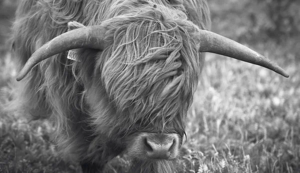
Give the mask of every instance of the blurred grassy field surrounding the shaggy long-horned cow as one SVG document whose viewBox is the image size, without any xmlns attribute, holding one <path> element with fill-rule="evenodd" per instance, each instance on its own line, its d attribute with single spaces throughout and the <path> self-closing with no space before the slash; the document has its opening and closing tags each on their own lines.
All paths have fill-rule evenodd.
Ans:
<svg viewBox="0 0 300 173">
<path fill-rule="evenodd" d="M 300 36 L 278 40 L 260 33 L 261 25 L 267 23 L 264 10 L 253 4 L 245 7 L 247 1 L 210 0 L 211 30 L 265 55 L 290 77 L 207 53 L 188 112 L 184 155 L 174 164 L 176 173 L 300 172 Z M 256 25 L 252 13 L 258 16 Z M 5 32 L 1 29 L 0 40 L 9 32 L 10 16 L 3 16 L 1 23 L 6 24 L 1 25 Z M 3 43 L 0 47 L 6 50 Z M 15 75 L 4 48 L 0 51 L 0 103 L 9 99 L 7 83 Z M 0 172 L 78 171 L 55 156 L 49 143 L 52 131 L 47 122 L 27 123 L 20 115 L 0 111 Z M 126 158 L 117 157 L 107 172 L 126 173 L 127 167 Z"/>
</svg>

